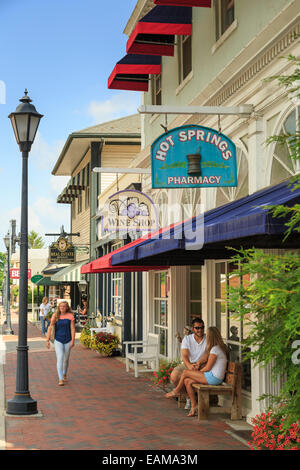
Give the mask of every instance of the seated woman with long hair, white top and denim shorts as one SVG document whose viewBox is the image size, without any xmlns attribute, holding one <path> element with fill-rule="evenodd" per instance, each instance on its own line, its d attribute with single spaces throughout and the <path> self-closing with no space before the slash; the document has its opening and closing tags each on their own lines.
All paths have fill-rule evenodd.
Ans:
<svg viewBox="0 0 300 470">
<path fill-rule="evenodd" d="M 166 398 L 179 396 L 185 387 L 191 400 L 191 411 L 188 416 L 195 416 L 197 414 L 196 395 L 192 384 L 220 385 L 225 377 L 229 352 L 223 342 L 220 331 L 215 326 L 207 329 L 206 349 L 209 356 L 207 363 L 201 370 L 185 370 L 177 387 L 165 395 Z"/>
</svg>

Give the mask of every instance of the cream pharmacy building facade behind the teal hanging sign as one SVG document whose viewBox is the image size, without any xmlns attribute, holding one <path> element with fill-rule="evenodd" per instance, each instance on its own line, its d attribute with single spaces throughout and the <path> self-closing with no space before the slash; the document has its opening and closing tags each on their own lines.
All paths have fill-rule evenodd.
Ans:
<svg viewBox="0 0 300 470">
<path fill-rule="evenodd" d="M 125 28 L 129 37 L 137 22 L 154 7 L 152 0 L 137 2 Z M 220 118 L 142 115 L 142 151 L 133 160 L 133 167 L 150 167 L 150 146 L 162 134 L 161 124 L 169 130 L 186 124 L 221 127 L 237 147 L 238 186 L 234 188 L 153 189 L 150 176 L 142 177 L 142 191 L 162 208 L 162 227 L 172 222 L 167 208 L 173 203 L 183 207 L 178 220 L 184 220 L 192 215 L 191 205 L 201 204 L 206 212 L 299 172 L 299 162 L 292 160 L 287 146 L 266 145 L 270 136 L 282 131 L 293 133 L 299 123 L 297 102 L 276 82 L 266 81 L 293 72 L 295 65 L 282 57 L 299 56 L 299 29 L 299 2 L 294 0 L 253 0 L 251 4 L 246 0 L 217 0 L 211 8 L 193 7 L 192 35 L 176 37 L 174 56 L 162 56 L 161 74 L 150 76 L 149 91 L 142 93 L 141 103 L 251 104 L 254 111 L 247 117 Z M 206 326 L 220 328 L 231 347 L 232 359 L 241 360 L 242 339 L 247 332 L 239 322 L 228 319 L 225 284 L 231 269 L 231 260 L 226 258 L 143 273 L 143 333 L 145 337 L 149 331 L 160 333 L 162 357 L 178 357 L 176 333 L 182 334 L 184 326 L 200 316 Z M 274 391 L 274 387 L 269 370 L 244 363 L 243 412 L 248 420 L 265 406 L 258 397 Z"/>
</svg>

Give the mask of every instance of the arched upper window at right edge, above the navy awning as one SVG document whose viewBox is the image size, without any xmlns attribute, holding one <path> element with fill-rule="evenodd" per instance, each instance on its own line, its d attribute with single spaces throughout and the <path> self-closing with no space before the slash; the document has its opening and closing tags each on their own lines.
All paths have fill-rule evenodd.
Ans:
<svg viewBox="0 0 300 470">
<path fill-rule="evenodd" d="M 300 106 L 295 108 L 285 119 L 279 134 L 295 134 L 300 128 Z M 299 173 L 299 161 L 291 157 L 291 149 L 287 143 L 281 145 L 276 143 L 271 170 L 271 184 L 278 184 L 281 181 Z"/>
</svg>

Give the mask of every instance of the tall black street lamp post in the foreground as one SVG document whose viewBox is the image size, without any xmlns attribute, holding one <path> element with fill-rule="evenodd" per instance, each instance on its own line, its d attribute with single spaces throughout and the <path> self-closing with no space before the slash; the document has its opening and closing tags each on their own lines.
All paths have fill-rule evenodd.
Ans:
<svg viewBox="0 0 300 470">
<path fill-rule="evenodd" d="M 20 284 L 19 284 L 19 332 L 17 346 L 17 374 L 15 396 L 7 401 L 7 414 L 33 415 L 38 412 L 37 402 L 30 396 L 28 387 L 28 156 L 39 122 L 43 117 L 30 104 L 25 96 L 21 104 L 8 117 L 11 120 L 17 143 L 22 152 L 22 195 L 21 195 L 21 235 L 20 235 Z"/>
</svg>

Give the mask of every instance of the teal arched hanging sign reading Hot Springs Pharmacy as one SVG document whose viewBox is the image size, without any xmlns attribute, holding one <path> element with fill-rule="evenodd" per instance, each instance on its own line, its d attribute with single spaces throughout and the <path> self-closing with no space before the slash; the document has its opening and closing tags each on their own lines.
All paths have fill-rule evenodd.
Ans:
<svg viewBox="0 0 300 470">
<path fill-rule="evenodd" d="M 235 144 L 209 127 L 177 127 L 151 146 L 153 188 L 237 186 Z"/>
</svg>

